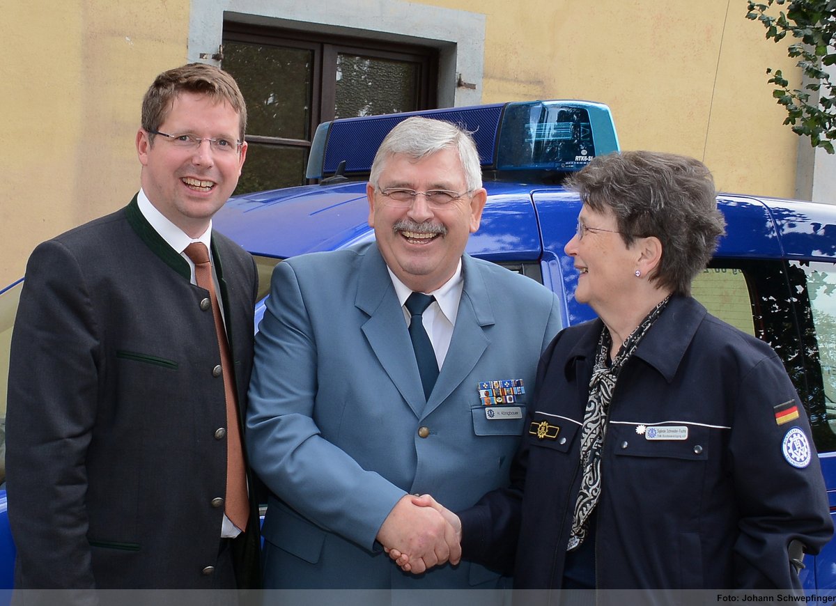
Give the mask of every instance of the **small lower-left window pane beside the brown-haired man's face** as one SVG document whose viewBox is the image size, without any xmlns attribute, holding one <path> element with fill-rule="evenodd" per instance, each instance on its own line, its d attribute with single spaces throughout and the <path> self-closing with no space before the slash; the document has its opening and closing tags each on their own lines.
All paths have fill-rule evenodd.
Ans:
<svg viewBox="0 0 836 606">
<path fill-rule="evenodd" d="M 304 183 L 307 160 L 308 150 L 304 147 L 251 142 L 235 194 L 298 186 Z"/>
</svg>

